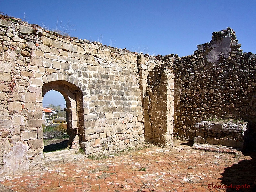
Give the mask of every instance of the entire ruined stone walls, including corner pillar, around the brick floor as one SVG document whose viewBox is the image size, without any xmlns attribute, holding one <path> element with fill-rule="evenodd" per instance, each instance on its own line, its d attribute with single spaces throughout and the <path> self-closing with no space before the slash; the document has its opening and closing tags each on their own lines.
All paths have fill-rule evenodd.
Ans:
<svg viewBox="0 0 256 192">
<path fill-rule="evenodd" d="M 242 52 L 230 28 L 192 55 L 155 57 L 0 18 L 1 171 L 43 159 L 49 90 L 64 96 L 70 147 L 86 155 L 193 140 L 207 119 L 241 118 L 256 140 L 256 55 Z"/>
</svg>

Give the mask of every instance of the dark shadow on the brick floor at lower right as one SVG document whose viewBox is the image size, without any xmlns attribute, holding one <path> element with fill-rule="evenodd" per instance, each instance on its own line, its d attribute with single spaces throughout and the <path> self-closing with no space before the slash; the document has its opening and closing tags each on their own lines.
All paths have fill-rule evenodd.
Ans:
<svg viewBox="0 0 256 192">
<path fill-rule="evenodd" d="M 252 159 L 240 160 L 231 167 L 225 168 L 224 172 L 221 173 L 221 183 L 227 186 L 226 191 L 228 192 L 256 191 L 256 186 L 253 187 L 254 180 L 256 179 L 256 151 L 244 155 L 250 156 Z M 250 185 L 250 188 L 248 185 Z"/>
</svg>

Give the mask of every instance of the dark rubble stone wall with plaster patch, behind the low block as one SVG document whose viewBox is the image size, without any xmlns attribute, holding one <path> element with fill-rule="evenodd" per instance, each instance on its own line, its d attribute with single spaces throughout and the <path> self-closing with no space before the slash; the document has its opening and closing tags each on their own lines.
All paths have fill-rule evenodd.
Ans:
<svg viewBox="0 0 256 192">
<path fill-rule="evenodd" d="M 214 32 L 211 42 L 198 45 L 194 54 L 176 58 L 175 136 L 193 140 L 196 122 L 241 118 L 249 121 L 255 137 L 256 55 L 240 47 L 227 28 Z"/>
</svg>

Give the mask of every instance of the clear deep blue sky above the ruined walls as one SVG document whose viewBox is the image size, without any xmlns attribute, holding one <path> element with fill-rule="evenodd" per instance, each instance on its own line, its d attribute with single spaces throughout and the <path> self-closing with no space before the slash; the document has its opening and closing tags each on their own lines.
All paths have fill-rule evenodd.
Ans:
<svg viewBox="0 0 256 192">
<path fill-rule="evenodd" d="M 236 32 L 243 52 L 256 53 L 255 8 L 255 0 L 0 0 L 0 12 L 30 24 L 134 52 L 180 57 L 226 27 Z"/>
</svg>

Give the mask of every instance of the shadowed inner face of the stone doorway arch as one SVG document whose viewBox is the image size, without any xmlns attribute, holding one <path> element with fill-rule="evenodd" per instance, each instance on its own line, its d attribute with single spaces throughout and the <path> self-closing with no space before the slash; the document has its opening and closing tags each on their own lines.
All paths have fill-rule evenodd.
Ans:
<svg viewBox="0 0 256 192">
<path fill-rule="evenodd" d="M 60 92 L 66 101 L 66 122 L 69 144 L 71 148 L 77 148 L 79 144 L 79 130 L 84 128 L 83 94 L 82 90 L 68 81 L 51 81 L 42 86 L 42 96 L 50 90 Z"/>
</svg>

